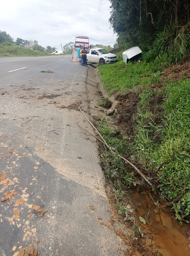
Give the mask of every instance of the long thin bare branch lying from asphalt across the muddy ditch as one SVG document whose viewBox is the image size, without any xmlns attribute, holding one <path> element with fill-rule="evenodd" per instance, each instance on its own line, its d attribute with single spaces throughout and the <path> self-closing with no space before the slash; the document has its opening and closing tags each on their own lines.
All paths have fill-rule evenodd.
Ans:
<svg viewBox="0 0 190 256">
<path fill-rule="evenodd" d="M 118 157 L 120 157 L 121 159 L 123 159 L 123 161 L 127 164 L 129 164 L 130 166 L 132 166 L 135 171 L 141 175 L 141 177 L 150 185 L 152 186 L 152 184 L 150 183 L 150 181 L 145 177 L 145 175 L 130 161 L 128 161 L 126 158 L 120 156 L 119 154 L 117 154 L 117 152 L 113 151 L 112 148 L 107 144 L 107 142 L 104 140 L 104 138 L 102 137 L 102 135 L 98 132 L 97 128 L 94 126 L 94 124 L 88 119 L 88 117 L 85 116 L 84 112 L 82 111 L 82 109 L 80 109 L 80 106 L 78 105 L 78 109 L 79 111 L 83 114 L 83 116 L 86 118 L 86 120 L 91 124 L 91 126 L 94 128 L 95 132 L 100 136 L 101 141 L 103 142 L 103 144 L 108 148 L 108 150 L 110 150 L 112 153 L 116 154 Z"/>
</svg>

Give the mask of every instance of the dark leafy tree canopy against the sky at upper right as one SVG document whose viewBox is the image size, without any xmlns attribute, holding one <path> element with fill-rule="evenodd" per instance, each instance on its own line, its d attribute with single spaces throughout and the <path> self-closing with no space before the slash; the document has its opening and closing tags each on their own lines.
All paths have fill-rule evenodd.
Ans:
<svg viewBox="0 0 190 256">
<path fill-rule="evenodd" d="M 110 0 L 110 23 L 118 44 L 152 48 L 159 33 L 168 30 L 169 44 L 189 22 L 189 0 Z M 189 33 L 189 32 L 188 32 Z"/>
</svg>

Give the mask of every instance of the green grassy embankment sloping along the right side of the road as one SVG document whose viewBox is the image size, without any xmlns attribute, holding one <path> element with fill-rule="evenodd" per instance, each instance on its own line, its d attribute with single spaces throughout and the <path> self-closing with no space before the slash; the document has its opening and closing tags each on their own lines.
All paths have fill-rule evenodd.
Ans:
<svg viewBox="0 0 190 256">
<path fill-rule="evenodd" d="M 138 103 L 134 104 L 135 115 L 130 138 L 127 134 L 119 134 L 105 119 L 99 121 L 100 132 L 110 146 L 150 178 L 155 193 L 171 202 L 176 219 L 180 223 L 183 220 L 189 222 L 189 79 L 185 73 L 179 78 L 182 72 L 180 68 L 177 76 L 175 73 L 175 79 L 172 78 L 172 73 L 165 74 L 158 59 L 149 63 L 142 61 L 125 65 L 121 54 L 117 63 L 99 66 L 98 70 L 110 95 L 122 95 L 125 98 L 127 94 L 130 97 L 133 93 L 139 98 Z M 123 111 L 127 113 L 127 109 Z M 119 115 L 120 113 L 116 113 L 116 121 Z M 105 151 L 102 164 L 119 196 L 126 186 L 141 183 L 140 177 L 132 169 L 126 169 L 122 160 L 111 152 Z M 122 204 L 118 205 L 119 211 L 124 214 L 122 207 Z"/>
</svg>

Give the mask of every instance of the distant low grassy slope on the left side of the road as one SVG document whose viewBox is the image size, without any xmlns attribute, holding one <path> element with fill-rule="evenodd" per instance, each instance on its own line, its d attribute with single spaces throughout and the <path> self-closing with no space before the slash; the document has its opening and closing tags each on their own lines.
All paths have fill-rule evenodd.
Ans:
<svg viewBox="0 0 190 256">
<path fill-rule="evenodd" d="M 29 48 L 24 48 L 5 43 L 0 44 L 0 57 L 24 57 L 24 56 L 47 56 L 45 52 L 33 51 Z"/>
</svg>

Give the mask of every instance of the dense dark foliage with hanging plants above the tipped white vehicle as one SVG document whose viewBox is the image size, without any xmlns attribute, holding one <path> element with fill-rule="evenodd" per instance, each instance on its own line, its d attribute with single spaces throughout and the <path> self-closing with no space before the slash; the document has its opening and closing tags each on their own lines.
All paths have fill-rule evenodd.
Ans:
<svg viewBox="0 0 190 256">
<path fill-rule="evenodd" d="M 171 61 L 189 49 L 189 0 L 110 0 L 110 23 L 118 34 L 118 44 L 140 46 L 155 58 L 171 50 Z M 156 39 L 156 41 L 155 41 Z"/>
</svg>

